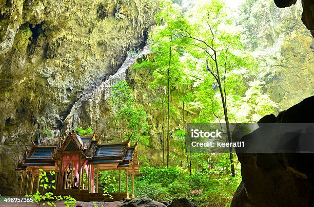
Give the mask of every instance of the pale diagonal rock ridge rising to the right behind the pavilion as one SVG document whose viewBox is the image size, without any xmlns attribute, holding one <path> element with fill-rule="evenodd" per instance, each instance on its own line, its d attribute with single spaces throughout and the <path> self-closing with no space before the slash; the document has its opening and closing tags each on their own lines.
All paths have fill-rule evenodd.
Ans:
<svg viewBox="0 0 314 207">
<path fill-rule="evenodd" d="M 108 102 L 110 97 L 110 87 L 121 80 L 126 80 L 130 67 L 138 60 L 142 61 L 150 56 L 149 45 L 146 45 L 139 53 L 130 54 L 126 57 L 124 63 L 119 70 L 107 80 L 103 81 L 99 86 L 95 87 L 91 93 L 84 95 L 78 99 L 72 106 L 71 111 L 64 121 L 65 129 L 71 126 L 91 126 L 97 123 L 97 127 L 106 131 L 106 136 L 110 136 L 110 140 L 114 140 L 119 135 L 114 135 L 114 129 L 108 122 L 108 118 L 113 115 L 112 106 Z M 113 132 L 112 134 L 110 132 Z"/>
</svg>

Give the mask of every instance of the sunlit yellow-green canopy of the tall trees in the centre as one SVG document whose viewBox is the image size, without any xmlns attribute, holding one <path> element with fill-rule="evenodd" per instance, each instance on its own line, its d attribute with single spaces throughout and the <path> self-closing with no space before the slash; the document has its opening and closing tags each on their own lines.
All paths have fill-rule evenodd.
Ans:
<svg viewBox="0 0 314 207">
<path fill-rule="evenodd" d="M 171 62 L 169 113 L 172 118 L 182 118 L 178 107 L 173 105 L 182 107 L 184 103 L 186 108 L 199 113 L 193 122 L 224 122 L 221 91 L 214 78 L 217 74 L 230 121 L 257 122 L 263 115 L 276 110 L 276 103 L 264 95 L 261 86 L 250 85 L 257 75 L 258 64 L 245 50 L 240 32 L 228 17 L 227 10 L 221 1 L 197 1 L 186 12 L 171 1 L 161 1 L 160 13 L 156 16 L 158 27 L 150 33 L 154 59 L 137 63 L 134 68 L 149 68 L 154 77 L 150 86 L 162 97 L 165 96 L 164 88 L 168 90 L 167 68 Z M 255 88 L 252 96 L 256 97 L 253 102 L 257 107 L 249 104 L 253 98 L 247 97 L 251 87 Z M 167 96 L 157 99 L 156 107 L 165 105 Z M 270 106 L 266 107 L 267 104 Z"/>
</svg>

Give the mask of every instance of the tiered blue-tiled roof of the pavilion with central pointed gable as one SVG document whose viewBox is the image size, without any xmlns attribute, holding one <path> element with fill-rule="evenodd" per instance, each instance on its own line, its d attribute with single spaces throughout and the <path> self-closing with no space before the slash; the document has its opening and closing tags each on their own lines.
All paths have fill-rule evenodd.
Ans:
<svg viewBox="0 0 314 207">
<path fill-rule="evenodd" d="M 80 151 L 88 159 L 88 164 L 115 168 L 138 166 L 136 144 L 130 147 L 129 139 L 125 142 L 105 144 L 99 144 L 99 140 L 100 137 L 95 139 L 95 134 L 79 136 L 72 131 L 65 139 L 60 137 L 56 146 L 36 146 L 32 142 L 30 149 L 26 146 L 23 158 L 19 160 L 15 170 L 25 170 L 27 166 L 52 166 L 60 159 L 63 151 Z"/>
</svg>

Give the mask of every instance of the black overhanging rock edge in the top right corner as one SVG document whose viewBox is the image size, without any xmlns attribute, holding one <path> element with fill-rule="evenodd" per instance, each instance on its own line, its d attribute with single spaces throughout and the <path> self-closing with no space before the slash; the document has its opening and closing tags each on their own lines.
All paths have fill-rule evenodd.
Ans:
<svg viewBox="0 0 314 207">
<path fill-rule="evenodd" d="M 277 7 L 284 8 L 296 4 L 297 0 L 274 0 Z M 314 36 L 314 2 L 313 0 L 302 0 L 302 21 L 306 28 Z"/>
</svg>

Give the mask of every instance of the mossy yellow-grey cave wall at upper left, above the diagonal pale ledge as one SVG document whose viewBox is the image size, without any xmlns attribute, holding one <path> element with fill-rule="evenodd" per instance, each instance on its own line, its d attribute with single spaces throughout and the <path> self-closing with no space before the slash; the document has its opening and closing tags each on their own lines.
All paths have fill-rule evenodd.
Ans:
<svg viewBox="0 0 314 207">
<path fill-rule="evenodd" d="M 43 125 L 60 130 L 74 102 L 113 75 L 127 51 L 144 47 L 157 7 L 0 1 L 0 140 L 21 145 Z"/>
</svg>

